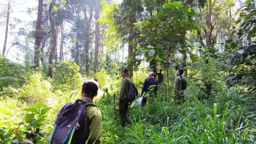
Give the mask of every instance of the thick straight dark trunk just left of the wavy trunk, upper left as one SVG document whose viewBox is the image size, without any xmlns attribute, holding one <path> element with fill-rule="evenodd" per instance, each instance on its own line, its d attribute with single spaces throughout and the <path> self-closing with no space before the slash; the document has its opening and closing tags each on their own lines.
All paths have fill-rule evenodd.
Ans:
<svg viewBox="0 0 256 144">
<path fill-rule="evenodd" d="M 34 51 L 34 67 L 37 68 L 40 66 L 40 43 L 42 39 L 41 25 L 42 25 L 42 15 L 43 15 L 43 0 L 38 0 L 38 12 L 37 12 L 37 21 L 36 21 L 36 42 L 35 42 L 35 51 Z"/>
</svg>

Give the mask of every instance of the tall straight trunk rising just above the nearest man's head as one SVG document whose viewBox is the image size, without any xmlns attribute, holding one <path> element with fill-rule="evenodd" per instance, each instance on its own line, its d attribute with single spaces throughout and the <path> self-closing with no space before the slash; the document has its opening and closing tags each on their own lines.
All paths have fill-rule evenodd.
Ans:
<svg viewBox="0 0 256 144">
<path fill-rule="evenodd" d="M 99 22 L 97 22 L 99 18 L 99 6 L 100 1 L 96 0 L 95 6 L 95 51 L 94 51 L 94 72 L 98 69 L 98 51 L 99 51 Z"/>
</svg>

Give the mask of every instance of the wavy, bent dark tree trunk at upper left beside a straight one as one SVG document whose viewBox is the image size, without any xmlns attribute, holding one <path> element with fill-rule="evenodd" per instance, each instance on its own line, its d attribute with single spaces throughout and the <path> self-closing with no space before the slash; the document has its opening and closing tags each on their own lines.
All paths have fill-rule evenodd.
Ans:
<svg viewBox="0 0 256 144">
<path fill-rule="evenodd" d="M 55 4 L 55 0 L 52 0 L 52 2 L 50 2 L 49 5 L 49 22 L 50 22 L 50 28 L 51 28 L 51 32 L 52 32 L 52 47 L 50 50 L 50 55 L 49 55 L 49 71 L 48 71 L 48 76 L 50 78 L 52 78 L 52 67 L 53 67 L 53 55 L 56 49 L 56 30 L 55 30 L 55 24 L 54 24 L 54 20 L 52 18 L 52 7 Z"/>
</svg>

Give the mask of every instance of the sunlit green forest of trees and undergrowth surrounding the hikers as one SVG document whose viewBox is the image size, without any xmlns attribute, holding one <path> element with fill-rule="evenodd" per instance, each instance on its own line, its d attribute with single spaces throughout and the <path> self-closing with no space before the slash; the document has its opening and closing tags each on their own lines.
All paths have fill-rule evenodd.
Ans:
<svg viewBox="0 0 256 144">
<path fill-rule="evenodd" d="M 85 80 L 99 84 L 103 144 L 256 144 L 255 43 L 255 0 L 0 0 L 0 144 L 49 143 Z M 139 93 L 164 74 L 125 128 L 123 67 Z"/>
</svg>

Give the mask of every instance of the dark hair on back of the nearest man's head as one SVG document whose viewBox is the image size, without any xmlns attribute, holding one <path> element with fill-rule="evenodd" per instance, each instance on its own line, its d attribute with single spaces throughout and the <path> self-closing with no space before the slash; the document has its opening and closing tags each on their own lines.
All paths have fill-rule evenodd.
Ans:
<svg viewBox="0 0 256 144">
<path fill-rule="evenodd" d="M 82 89 L 87 96 L 93 98 L 98 93 L 99 84 L 95 80 L 86 80 L 82 85 Z"/>
</svg>

